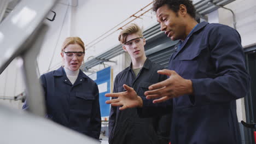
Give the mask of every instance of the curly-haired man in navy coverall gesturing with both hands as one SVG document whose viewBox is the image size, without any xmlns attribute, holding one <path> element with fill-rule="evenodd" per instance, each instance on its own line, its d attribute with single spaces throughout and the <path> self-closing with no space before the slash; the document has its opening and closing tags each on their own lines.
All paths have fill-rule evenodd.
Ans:
<svg viewBox="0 0 256 144">
<path fill-rule="evenodd" d="M 146 98 L 124 86 L 126 93 L 106 94 L 118 97 L 106 103 L 120 110 L 141 107 L 145 117 L 172 112 L 172 144 L 241 143 L 236 99 L 247 94 L 250 76 L 240 34 L 218 23 L 197 23 L 189 0 L 156 0 L 153 10 L 161 31 L 180 40 L 168 70 L 158 71 L 169 78 L 149 86 Z"/>
</svg>

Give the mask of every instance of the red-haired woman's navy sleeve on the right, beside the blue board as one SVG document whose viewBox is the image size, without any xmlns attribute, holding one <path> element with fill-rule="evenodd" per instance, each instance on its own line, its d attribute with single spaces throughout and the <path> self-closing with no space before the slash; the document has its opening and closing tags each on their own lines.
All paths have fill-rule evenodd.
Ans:
<svg viewBox="0 0 256 144">
<path fill-rule="evenodd" d="M 101 110 L 100 110 L 100 101 L 98 86 L 95 84 L 94 88 L 95 100 L 92 104 L 91 112 L 91 136 L 95 139 L 99 139 L 101 134 Z"/>
</svg>

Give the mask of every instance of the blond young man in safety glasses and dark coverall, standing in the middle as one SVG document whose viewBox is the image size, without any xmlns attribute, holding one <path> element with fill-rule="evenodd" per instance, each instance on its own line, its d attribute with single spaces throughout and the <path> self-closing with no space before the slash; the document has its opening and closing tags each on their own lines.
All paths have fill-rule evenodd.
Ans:
<svg viewBox="0 0 256 144">
<path fill-rule="evenodd" d="M 121 71 L 114 81 L 113 92 L 126 91 L 123 85 L 134 88 L 134 91 L 144 96 L 148 87 L 167 79 L 166 75 L 160 75 L 158 70 L 163 69 L 161 65 L 151 62 L 145 55 L 142 30 L 135 24 L 123 29 L 119 34 L 119 41 L 123 44 L 124 51 L 131 57 L 131 65 Z M 162 118 L 162 119 L 161 119 Z M 136 144 L 136 143 L 160 143 L 158 131 L 170 132 L 169 128 L 161 128 L 159 123 L 165 121 L 166 117 L 140 118 L 137 109 L 119 111 L 117 107 L 111 107 L 109 116 L 109 143 Z M 171 120 L 171 118 L 170 118 Z M 170 122 L 169 120 L 169 122 Z M 168 139 L 165 141 L 168 143 Z"/>
</svg>

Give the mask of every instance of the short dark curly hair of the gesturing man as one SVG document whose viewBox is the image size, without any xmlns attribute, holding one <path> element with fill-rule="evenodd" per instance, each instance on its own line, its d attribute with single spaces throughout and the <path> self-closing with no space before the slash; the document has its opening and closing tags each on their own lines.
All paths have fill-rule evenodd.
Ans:
<svg viewBox="0 0 256 144">
<path fill-rule="evenodd" d="M 195 8 L 191 0 L 156 0 L 153 4 L 153 11 L 156 12 L 156 10 L 165 4 L 175 13 L 178 12 L 179 5 L 184 4 L 187 8 L 188 14 L 195 19 Z"/>
</svg>

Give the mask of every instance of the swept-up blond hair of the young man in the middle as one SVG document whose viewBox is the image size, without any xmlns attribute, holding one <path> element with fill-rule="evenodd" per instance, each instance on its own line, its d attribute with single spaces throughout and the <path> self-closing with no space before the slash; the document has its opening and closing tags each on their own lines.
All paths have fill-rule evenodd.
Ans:
<svg viewBox="0 0 256 144">
<path fill-rule="evenodd" d="M 143 37 L 142 35 L 142 29 L 136 25 L 135 23 L 131 23 L 131 25 L 125 27 L 123 31 L 120 32 L 118 36 L 118 40 L 121 44 L 124 44 L 126 42 L 127 35 L 136 33 L 139 37 Z"/>
</svg>

